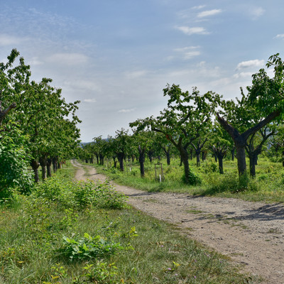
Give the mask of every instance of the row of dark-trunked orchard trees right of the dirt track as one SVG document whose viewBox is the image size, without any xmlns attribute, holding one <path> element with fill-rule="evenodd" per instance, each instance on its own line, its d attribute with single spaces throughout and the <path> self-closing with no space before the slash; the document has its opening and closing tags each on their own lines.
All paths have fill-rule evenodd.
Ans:
<svg viewBox="0 0 284 284">
<path fill-rule="evenodd" d="M 114 160 L 119 160 L 121 170 L 127 154 L 137 155 L 143 176 L 147 151 L 151 152 L 157 145 L 169 157 L 172 148 L 180 155 L 185 182 L 194 184 L 197 178 L 188 163 L 192 151 L 198 165 L 202 151 L 206 152 L 206 146 L 210 148 L 219 160 L 220 173 L 223 173 L 224 156 L 230 151 L 234 158 L 236 150 L 239 177 L 246 176 L 246 153 L 250 161 L 249 172 L 254 177 L 257 158 L 263 147 L 269 143 L 279 151 L 284 141 L 281 134 L 284 63 L 276 54 L 269 58 L 266 67 L 273 67 L 274 77 L 269 77 L 264 69 L 259 70 L 253 75 L 252 84 L 246 87 L 246 92 L 241 89 L 241 99 L 236 98 L 235 101 L 226 101 L 214 92 L 200 94 L 196 87 L 191 93 L 183 92 L 179 85 L 168 84 L 163 89 L 164 96 L 168 97 L 168 106 L 160 111 L 159 116 L 131 122 L 133 138 L 124 130 L 117 131 L 116 137 L 109 137 L 108 141 L 95 138 L 94 143 L 87 146 L 89 153 L 98 156 L 112 153 Z"/>
</svg>

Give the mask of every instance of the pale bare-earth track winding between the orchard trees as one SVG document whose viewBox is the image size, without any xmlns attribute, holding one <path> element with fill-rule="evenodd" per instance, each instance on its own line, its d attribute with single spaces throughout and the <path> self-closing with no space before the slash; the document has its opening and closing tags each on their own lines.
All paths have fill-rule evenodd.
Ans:
<svg viewBox="0 0 284 284">
<path fill-rule="evenodd" d="M 77 180 L 105 180 L 90 166 L 72 162 Z M 87 171 L 86 171 L 87 170 Z M 116 190 L 129 196 L 138 210 L 184 229 L 196 239 L 261 275 L 262 283 L 284 284 L 284 206 L 233 198 L 144 192 L 123 185 Z"/>
</svg>

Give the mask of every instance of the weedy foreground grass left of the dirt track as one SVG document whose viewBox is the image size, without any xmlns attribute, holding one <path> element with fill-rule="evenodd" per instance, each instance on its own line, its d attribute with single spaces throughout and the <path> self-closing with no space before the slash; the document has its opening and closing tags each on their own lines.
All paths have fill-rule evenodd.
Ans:
<svg viewBox="0 0 284 284">
<path fill-rule="evenodd" d="M 258 283 L 70 164 L 0 206 L 0 283 Z M 95 189 L 95 190 L 94 190 Z"/>
</svg>

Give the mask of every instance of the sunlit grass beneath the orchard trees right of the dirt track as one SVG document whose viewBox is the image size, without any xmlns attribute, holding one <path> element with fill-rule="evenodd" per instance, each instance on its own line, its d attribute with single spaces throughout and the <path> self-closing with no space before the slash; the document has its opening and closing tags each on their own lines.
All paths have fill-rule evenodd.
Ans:
<svg viewBox="0 0 284 284">
<path fill-rule="evenodd" d="M 155 172 L 155 163 L 163 165 L 163 182 L 155 179 L 160 172 Z M 90 165 L 90 164 L 89 164 Z M 187 192 L 192 195 L 207 195 L 218 197 L 234 197 L 243 200 L 284 202 L 284 168 L 282 163 L 273 163 L 263 157 L 256 165 L 256 178 L 250 179 L 246 187 L 239 186 L 236 159 L 224 160 L 224 175 L 219 174 L 218 165 L 213 158 L 201 162 L 196 166 L 195 160 L 190 160 L 190 169 L 200 180 L 201 185 L 189 186 L 182 182 L 183 167 L 180 167 L 179 159 L 172 159 L 168 166 L 165 160 L 146 161 L 145 178 L 140 177 L 139 164 L 126 162 L 124 173 L 111 166 L 110 161 L 102 165 L 95 165 L 99 173 L 104 173 L 109 178 L 124 185 L 136 187 L 147 191 L 163 192 Z M 249 165 L 249 160 L 247 161 Z M 156 165 L 156 168 L 158 166 Z"/>
</svg>

